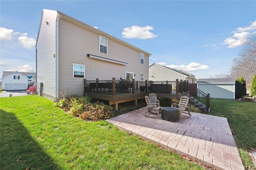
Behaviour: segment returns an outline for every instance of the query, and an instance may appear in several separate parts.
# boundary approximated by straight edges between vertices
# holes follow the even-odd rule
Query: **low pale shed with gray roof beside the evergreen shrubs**
[[[235,79],[198,79],[197,88],[210,98],[235,99]]]

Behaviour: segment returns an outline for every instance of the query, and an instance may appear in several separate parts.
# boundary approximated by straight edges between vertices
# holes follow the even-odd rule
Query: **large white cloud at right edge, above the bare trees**
[[[244,45],[246,39],[253,34],[256,34],[256,21],[252,22],[250,26],[246,26],[244,28],[238,27],[236,31],[232,31],[232,37],[228,37],[222,45],[228,45],[228,48],[235,48],[240,45]]]

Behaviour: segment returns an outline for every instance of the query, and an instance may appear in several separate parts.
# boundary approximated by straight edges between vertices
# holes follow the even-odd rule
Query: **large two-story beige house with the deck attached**
[[[99,21],[100,22],[100,21]],[[146,80],[150,53],[59,11],[42,12],[36,40],[37,93],[82,96],[86,80]]]

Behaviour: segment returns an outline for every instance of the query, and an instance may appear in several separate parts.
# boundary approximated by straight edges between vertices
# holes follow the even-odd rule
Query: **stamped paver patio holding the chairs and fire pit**
[[[189,119],[170,122],[144,117],[144,111],[145,107],[106,121],[212,168],[244,170],[226,118],[191,113]]]

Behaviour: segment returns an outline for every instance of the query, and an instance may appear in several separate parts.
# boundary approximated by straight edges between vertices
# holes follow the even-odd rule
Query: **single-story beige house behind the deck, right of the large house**
[[[179,81],[186,80],[188,83],[196,83],[194,75],[186,71],[176,70],[158,63],[153,63],[149,66],[148,75],[149,81],[176,81],[176,79],[178,79]]]

